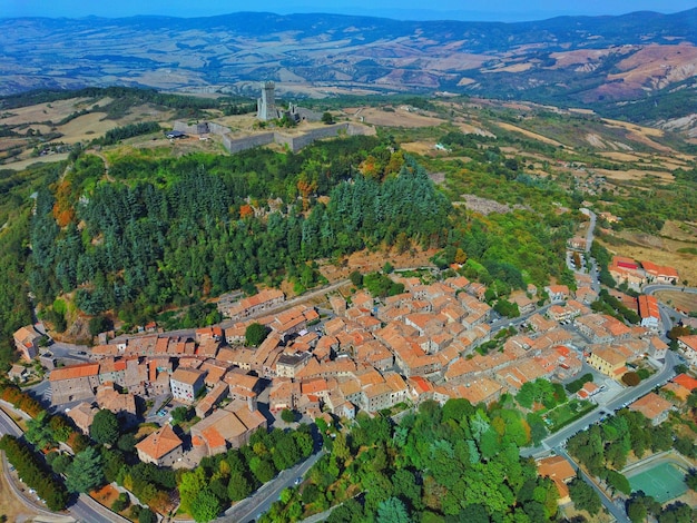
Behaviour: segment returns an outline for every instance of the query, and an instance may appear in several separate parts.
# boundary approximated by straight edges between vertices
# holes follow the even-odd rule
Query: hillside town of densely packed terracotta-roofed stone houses
[[[671,270],[645,262],[642,273],[630,265],[616,257],[610,270],[644,283],[646,273],[671,282]],[[86,434],[98,408],[115,412],[125,424],[159,423],[160,431],[138,443],[138,455],[175,467],[246,444],[256,430],[279,423],[284,411],[331,423],[357,412],[399,413],[426,399],[491,404],[526,383],[568,383],[589,367],[607,379],[587,383],[578,397],[588,401],[606,391],[611,397],[626,386],[621,378],[630,369],[655,372],[668,345],[659,335],[664,328],[652,296],[613,292],[640,315],[637,325],[592,312],[598,298],[592,275],[577,272],[575,292],[529,285],[514,298],[518,319],[502,318],[485,303],[484,285],[458,275],[424,283],[393,274],[402,293],[384,298],[364,289],[347,298],[332,293],[322,314],[308,305],[283,309],[281,290],[263,290],[220,303],[228,328],[199,328],[193,337],[158,333],[154,324],[137,336],[104,333],[104,343],[89,351],[90,363],[50,371],[49,397]],[[268,332],[258,346],[245,345],[253,324]],[[16,334],[27,359],[37,355],[32,330],[27,326]],[[680,338],[693,365],[696,338]],[[41,362],[51,368],[55,361],[47,354]],[[16,365],[10,377],[26,379],[26,368]],[[193,408],[200,420],[186,434],[168,424],[177,406]]]

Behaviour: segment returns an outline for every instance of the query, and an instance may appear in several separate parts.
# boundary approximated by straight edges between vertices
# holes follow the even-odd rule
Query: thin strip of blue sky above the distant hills
[[[206,17],[237,11],[334,12],[395,19],[539,20],[561,14],[621,14],[632,11],[670,13],[697,7],[697,0],[0,0],[0,18],[130,17],[167,14]]]

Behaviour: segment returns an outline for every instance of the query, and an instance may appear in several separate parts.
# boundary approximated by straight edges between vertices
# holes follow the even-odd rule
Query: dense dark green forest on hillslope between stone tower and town
[[[125,317],[130,323],[173,303],[277,284],[317,258],[412,241],[443,246],[446,198],[402,156],[389,172],[363,176],[366,146],[385,150],[356,138],[297,157],[125,158],[110,167],[114,182],[102,180],[100,158],[82,155],[53,190],[38,191],[31,287],[45,304],[77,289],[77,305],[92,315],[138,310]],[[269,197],[278,198],[274,210]]]

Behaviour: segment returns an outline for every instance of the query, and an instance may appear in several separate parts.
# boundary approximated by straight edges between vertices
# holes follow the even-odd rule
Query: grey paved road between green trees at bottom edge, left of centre
[[[271,505],[278,500],[284,489],[293,486],[295,478],[304,476],[323,455],[324,451],[320,451],[303,463],[295,465],[293,468],[281,472],[274,480],[263,485],[252,496],[229,507],[225,512],[225,515],[216,521],[246,523],[256,520],[257,515],[271,509]]]

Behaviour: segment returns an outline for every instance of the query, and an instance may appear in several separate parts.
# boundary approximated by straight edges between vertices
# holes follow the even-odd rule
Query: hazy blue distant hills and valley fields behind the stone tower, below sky
[[[697,9],[536,22],[397,21],[239,12],[209,18],[0,19],[0,93],[149,86],[173,91],[448,91],[554,103],[693,87]]]

